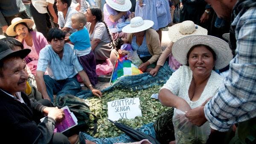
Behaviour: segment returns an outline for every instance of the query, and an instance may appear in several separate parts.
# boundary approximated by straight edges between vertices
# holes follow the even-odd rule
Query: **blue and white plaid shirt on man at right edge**
[[[236,56],[218,93],[204,107],[211,127],[218,131],[256,117],[256,7],[239,13],[232,25],[236,25]]]

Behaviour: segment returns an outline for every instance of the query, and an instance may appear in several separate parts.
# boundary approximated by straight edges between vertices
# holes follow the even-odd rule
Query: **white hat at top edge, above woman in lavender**
[[[116,11],[126,12],[131,9],[130,0],[106,0],[108,6]]]

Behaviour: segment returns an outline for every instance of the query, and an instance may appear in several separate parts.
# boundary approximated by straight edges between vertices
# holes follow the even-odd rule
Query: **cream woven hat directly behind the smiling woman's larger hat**
[[[168,33],[170,40],[175,42],[181,37],[186,37],[189,35],[207,35],[207,29],[195,25],[195,23],[190,20],[186,20],[182,23],[177,23],[171,26]]]

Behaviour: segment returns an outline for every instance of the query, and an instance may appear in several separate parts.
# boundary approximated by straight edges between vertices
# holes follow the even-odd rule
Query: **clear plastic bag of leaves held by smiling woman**
[[[197,127],[189,122],[189,119],[185,117],[185,112],[179,109],[174,109],[172,123],[176,144],[205,144],[210,135],[209,122]]]

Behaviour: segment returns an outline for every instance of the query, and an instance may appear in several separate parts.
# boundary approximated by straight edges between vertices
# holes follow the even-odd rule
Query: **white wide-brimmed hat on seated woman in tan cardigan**
[[[122,32],[135,33],[142,32],[151,28],[154,25],[152,20],[143,20],[142,17],[134,17],[131,19],[131,23],[122,28]]]

